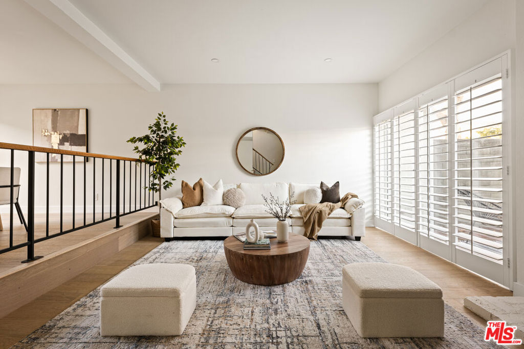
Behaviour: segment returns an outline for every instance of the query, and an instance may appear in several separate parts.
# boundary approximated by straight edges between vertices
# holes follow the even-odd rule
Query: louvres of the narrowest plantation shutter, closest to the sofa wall
[[[391,120],[374,127],[375,217],[391,221]]]

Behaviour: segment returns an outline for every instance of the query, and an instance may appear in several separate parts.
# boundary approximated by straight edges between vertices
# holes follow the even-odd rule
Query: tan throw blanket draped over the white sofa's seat
[[[320,229],[322,229],[322,223],[324,223],[334,210],[344,207],[346,202],[352,197],[358,196],[353,193],[347,193],[340,202],[337,202],[336,204],[323,202],[322,204],[307,204],[300,206],[300,213],[302,213],[302,217],[304,217],[304,237],[316,240],[316,235],[318,235]]]

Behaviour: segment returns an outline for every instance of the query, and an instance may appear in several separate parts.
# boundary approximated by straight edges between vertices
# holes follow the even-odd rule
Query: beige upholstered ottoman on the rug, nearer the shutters
[[[362,337],[442,337],[442,290],[411,268],[355,263],[342,268],[342,306]]]

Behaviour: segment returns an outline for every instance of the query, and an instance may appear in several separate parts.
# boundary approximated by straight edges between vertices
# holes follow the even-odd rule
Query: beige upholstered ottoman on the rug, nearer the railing
[[[191,265],[136,265],[102,287],[100,333],[180,335],[195,306],[196,276]]]

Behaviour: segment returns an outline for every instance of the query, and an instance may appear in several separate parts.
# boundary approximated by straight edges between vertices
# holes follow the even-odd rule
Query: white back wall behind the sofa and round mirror
[[[46,107],[88,108],[89,151],[121,156],[134,156],[125,141],[146,133],[163,110],[187,142],[174,187],[181,179],[194,183],[199,177],[212,184],[219,178],[224,183],[340,180],[341,190],[366,200],[372,224],[371,120],[377,112],[376,84],[167,85],[160,93],[131,84],[0,85],[0,140],[32,144],[31,109]],[[238,137],[255,126],[275,130],[286,147],[281,167],[268,176],[249,175],[236,162]],[[0,151],[0,165],[7,161],[8,153]],[[17,164],[25,168],[26,163],[27,156],[17,154]],[[68,166],[65,172],[70,173]],[[56,179],[59,165],[53,164],[51,170]],[[45,165],[36,165],[41,180],[44,171]],[[71,187],[69,182],[66,187]],[[57,190],[54,185],[52,192]],[[37,188],[40,208],[44,194],[43,186]],[[52,205],[58,202],[54,195]]]

